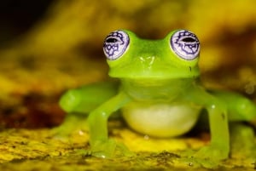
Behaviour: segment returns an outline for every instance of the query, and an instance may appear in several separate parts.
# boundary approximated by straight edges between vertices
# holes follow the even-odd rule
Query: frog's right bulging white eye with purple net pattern
[[[200,43],[191,31],[178,30],[170,40],[172,51],[184,60],[194,60],[199,56]]]

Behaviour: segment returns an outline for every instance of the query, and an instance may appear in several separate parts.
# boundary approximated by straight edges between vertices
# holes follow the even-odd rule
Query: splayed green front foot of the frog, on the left
[[[115,140],[98,140],[90,145],[90,150],[85,152],[86,156],[112,158],[115,156],[131,157],[134,154],[123,144],[116,143]]]

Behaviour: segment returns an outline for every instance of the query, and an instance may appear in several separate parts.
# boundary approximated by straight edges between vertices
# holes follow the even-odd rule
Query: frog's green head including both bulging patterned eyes
[[[172,31],[159,40],[141,39],[126,30],[113,31],[106,37],[103,51],[110,77],[172,79],[200,74],[200,43],[191,31]]]

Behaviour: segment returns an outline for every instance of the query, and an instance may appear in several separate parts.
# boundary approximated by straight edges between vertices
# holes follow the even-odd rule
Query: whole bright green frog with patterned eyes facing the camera
[[[61,108],[89,113],[90,151],[111,157],[116,143],[108,138],[108,117],[120,111],[138,133],[167,138],[187,133],[202,110],[207,111],[210,145],[195,157],[229,157],[229,122],[256,119],[256,106],[240,94],[207,90],[199,82],[200,42],[187,30],[171,31],[158,40],[142,39],[132,31],[111,32],[103,43],[109,76],[116,83],[98,83],[63,94]]]

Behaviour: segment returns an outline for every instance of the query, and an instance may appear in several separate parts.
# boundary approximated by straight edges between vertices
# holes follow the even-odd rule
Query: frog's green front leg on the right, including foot
[[[195,88],[185,97],[190,102],[207,109],[211,142],[195,153],[195,157],[211,160],[222,160],[229,157],[230,134],[228,125],[227,106],[204,88]]]

